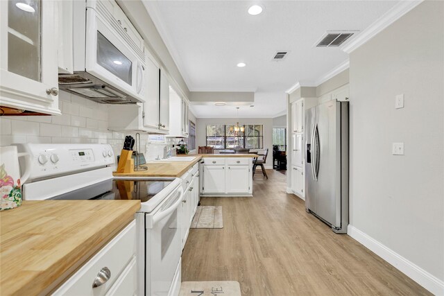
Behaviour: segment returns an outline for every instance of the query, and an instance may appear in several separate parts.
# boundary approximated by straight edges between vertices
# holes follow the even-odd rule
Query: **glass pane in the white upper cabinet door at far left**
[[[42,6],[39,0],[8,1],[8,71],[42,81]]]

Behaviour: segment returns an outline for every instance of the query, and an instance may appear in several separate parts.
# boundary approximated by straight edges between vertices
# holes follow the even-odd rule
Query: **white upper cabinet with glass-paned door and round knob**
[[[0,1],[0,105],[60,114],[56,1]]]

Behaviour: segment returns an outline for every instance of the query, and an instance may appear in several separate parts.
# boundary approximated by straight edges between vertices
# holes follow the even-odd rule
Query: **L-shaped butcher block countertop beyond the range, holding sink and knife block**
[[[193,157],[191,162],[171,162],[168,160],[156,160],[147,162],[143,166],[148,167],[146,171],[135,171],[133,173],[112,173],[114,177],[180,177],[186,173],[191,166],[194,166],[203,157],[257,157],[255,154],[187,154],[177,155],[178,157]]]

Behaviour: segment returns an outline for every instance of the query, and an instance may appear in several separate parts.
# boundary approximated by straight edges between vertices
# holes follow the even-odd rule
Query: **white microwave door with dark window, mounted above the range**
[[[143,101],[144,64],[95,9],[86,11],[85,71]]]

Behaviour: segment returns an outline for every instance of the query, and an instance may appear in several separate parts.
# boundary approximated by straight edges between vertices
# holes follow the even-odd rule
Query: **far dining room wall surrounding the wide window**
[[[264,125],[264,148],[268,148],[268,157],[266,159],[265,168],[273,168],[273,119],[197,119],[196,123],[196,141],[198,146],[206,145],[206,128],[212,124],[262,124]]]

